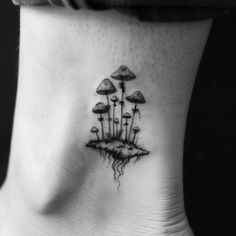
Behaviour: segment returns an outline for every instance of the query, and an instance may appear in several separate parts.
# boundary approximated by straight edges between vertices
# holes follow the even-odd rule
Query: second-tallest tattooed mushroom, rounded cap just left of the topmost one
[[[98,86],[96,92],[100,95],[105,95],[107,98],[108,106],[108,139],[111,138],[111,114],[110,114],[110,103],[109,103],[109,94],[116,92],[116,87],[109,79],[104,79]]]

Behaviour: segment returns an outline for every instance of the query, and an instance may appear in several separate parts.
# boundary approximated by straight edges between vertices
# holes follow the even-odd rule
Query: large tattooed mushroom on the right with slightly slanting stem
[[[132,116],[132,121],[130,125],[130,130],[129,130],[129,137],[128,137],[128,143],[129,143],[132,129],[133,129],[133,124],[134,124],[134,117],[135,117],[135,114],[139,111],[139,109],[137,109],[137,104],[143,104],[146,101],[145,101],[145,98],[143,97],[143,94],[140,91],[136,91],[131,96],[126,97],[126,100],[135,104],[134,108],[132,109],[133,116]]]

